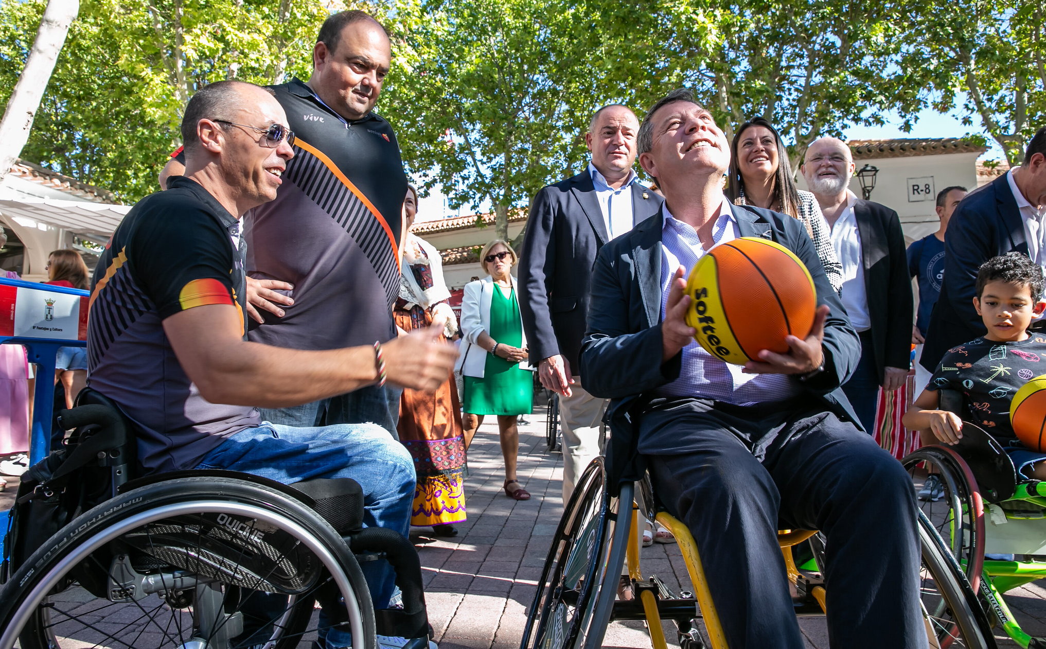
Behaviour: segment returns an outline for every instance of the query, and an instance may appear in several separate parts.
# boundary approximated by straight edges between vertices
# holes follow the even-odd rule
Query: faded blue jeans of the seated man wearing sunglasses
[[[373,424],[294,428],[263,423],[247,428],[207,453],[197,469],[226,469],[268,477],[285,485],[314,478],[350,477],[363,488],[363,524],[410,531],[414,463],[407,449]],[[388,608],[394,574],[384,559],[364,561],[374,608]],[[348,646],[327,634],[334,646]]]

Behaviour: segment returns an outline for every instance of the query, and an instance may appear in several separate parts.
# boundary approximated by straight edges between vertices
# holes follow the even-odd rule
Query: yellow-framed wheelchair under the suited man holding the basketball
[[[612,621],[644,621],[654,649],[668,646],[662,621],[675,625],[682,649],[726,649],[702,557],[689,530],[656,505],[651,478],[635,463],[634,440],[622,426],[611,427],[610,451],[595,458],[581,477],[552,537],[551,547],[528,609],[521,649],[595,649]],[[636,483],[641,497],[636,498]],[[667,528],[679,542],[692,592],[674,592],[664,580],[646,575],[640,562],[640,508]],[[920,592],[932,648],[996,646],[988,618],[978,605],[959,563],[925,515],[919,515]],[[797,565],[792,549],[810,542],[814,559]],[[825,610],[821,567],[823,537],[815,531],[780,531],[778,542],[797,616]],[[631,600],[616,599],[622,566],[628,565]]]

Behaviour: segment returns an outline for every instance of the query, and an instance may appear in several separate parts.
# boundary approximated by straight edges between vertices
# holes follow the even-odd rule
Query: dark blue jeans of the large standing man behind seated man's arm
[[[338,397],[287,408],[258,408],[262,419],[285,426],[312,427],[335,424],[378,424],[400,439],[400,395],[392,385],[368,385]]]

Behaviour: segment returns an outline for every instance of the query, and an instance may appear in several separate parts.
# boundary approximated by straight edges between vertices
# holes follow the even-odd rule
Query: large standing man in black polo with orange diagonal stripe
[[[394,335],[407,177],[395,134],[371,112],[391,57],[377,20],[340,12],[320,28],[309,82],[272,87],[296,134],[295,156],[276,199],[245,219],[250,276],[280,288],[264,293],[276,304],[253,323],[253,341],[331,350]],[[161,183],[181,169],[172,160]],[[289,426],[372,422],[393,431],[397,415],[399,390],[379,386],[262,410]]]

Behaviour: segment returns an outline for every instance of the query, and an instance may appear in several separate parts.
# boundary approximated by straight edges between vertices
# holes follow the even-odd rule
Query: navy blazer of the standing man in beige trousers
[[[633,222],[657,214],[663,200],[634,183]],[[570,363],[570,372],[578,374],[592,264],[608,241],[602,210],[587,169],[543,187],[535,197],[519,274],[520,313],[535,366],[544,358],[562,354]]]

